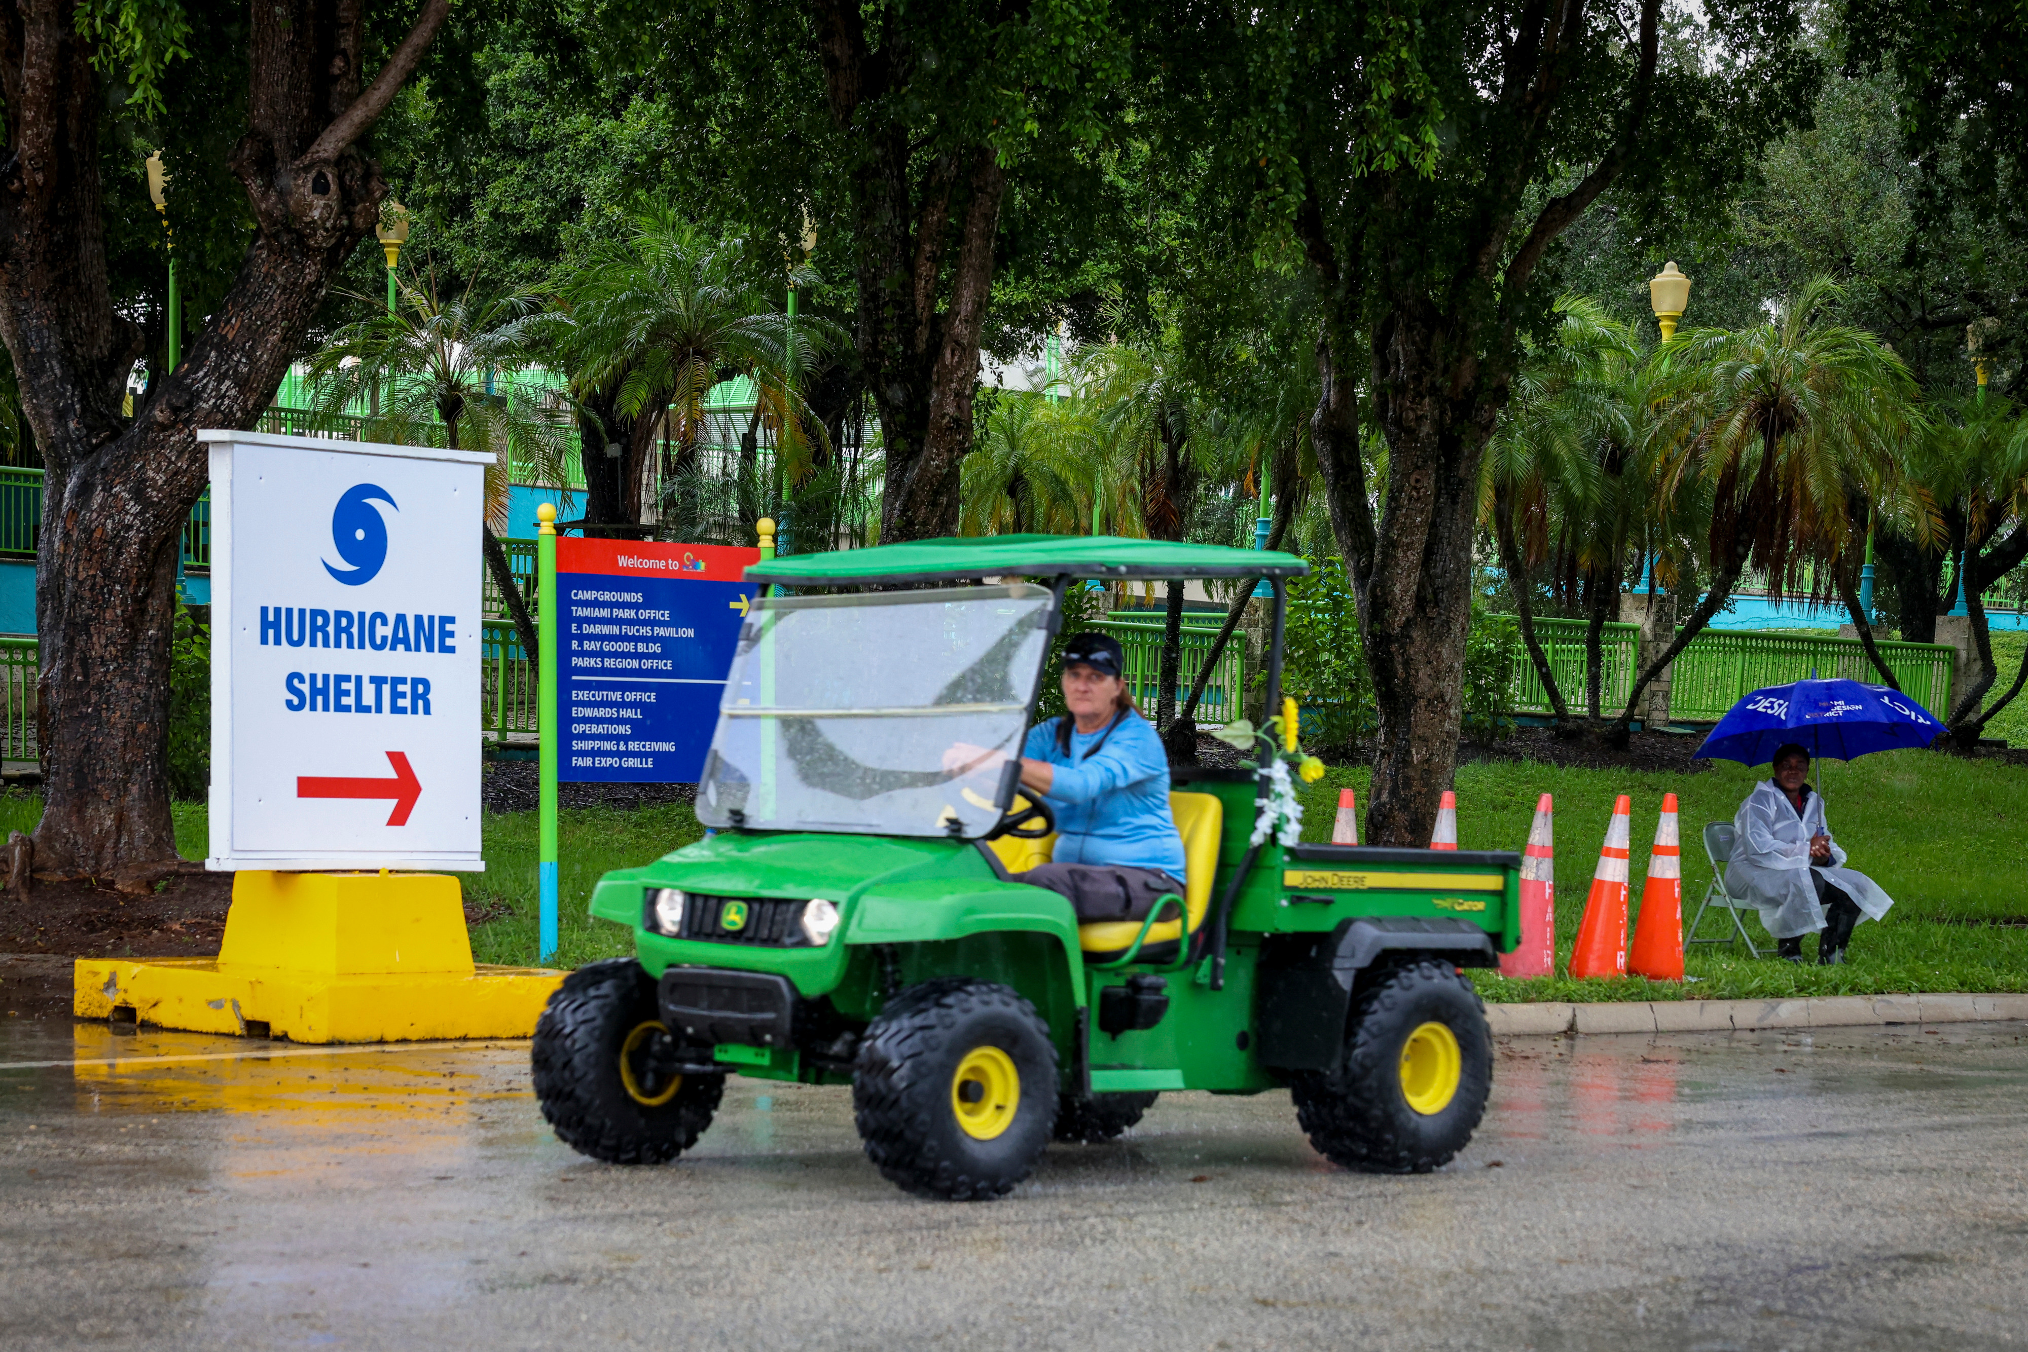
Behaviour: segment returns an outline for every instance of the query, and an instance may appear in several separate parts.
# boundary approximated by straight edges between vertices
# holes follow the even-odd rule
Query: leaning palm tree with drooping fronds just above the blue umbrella
[[[1665,505],[1710,491],[1712,588],[1635,677],[1614,740],[1748,564],[1766,572],[1774,598],[1811,564],[1839,568],[1864,529],[1854,489],[1898,472],[1898,450],[1923,424],[1914,379],[1880,339],[1835,322],[1841,298],[1815,278],[1764,324],[1683,330],[1657,349],[1649,472]]]

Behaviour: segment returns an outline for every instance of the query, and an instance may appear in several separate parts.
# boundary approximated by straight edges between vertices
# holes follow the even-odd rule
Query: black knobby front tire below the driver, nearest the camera
[[[1012,1121],[992,1139],[957,1119],[957,1070],[998,1048],[1018,1074]],[[1018,991],[937,977],[886,1003],[860,1040],[852,1111],[866,1157],[904,1192],[959,1202],[998,1198],[1034,1172],[1057,1125],[1057,1046]]]

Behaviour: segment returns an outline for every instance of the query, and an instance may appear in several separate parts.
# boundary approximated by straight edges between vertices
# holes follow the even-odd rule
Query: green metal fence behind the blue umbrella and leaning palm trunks
[[[1541,643],[1564,691],[1564,703],[1584,711],[1584,620],[1539,618],[1535,639]],[[1635,681],[1635,624],[1606,624],[1600,659],[1600,711],[1608,718],[1626,707]],[[1953,649],[1937,643],[1882,641],[1880,657],[1900,687],[1933,713],[1947,713],[1951,701]],[[1880,681],[1858,639],[1835,634],[1766,634],[1738,628],[1708,628],[1677,655],[1669,679],[1669,718],[1683,722],[1718,722],[1748,691],[1762,685],[1805,681],[1815,671],[1819,679]],[[1549,713],[1549,697],[1535,677],[1527,649],[1515,657],[1515,711]]]

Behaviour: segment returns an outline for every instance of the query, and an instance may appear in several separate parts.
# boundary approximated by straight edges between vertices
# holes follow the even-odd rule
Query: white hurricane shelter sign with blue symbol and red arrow
[[[493,456],[262,432],[211,444],[213,870],[483,870]]]

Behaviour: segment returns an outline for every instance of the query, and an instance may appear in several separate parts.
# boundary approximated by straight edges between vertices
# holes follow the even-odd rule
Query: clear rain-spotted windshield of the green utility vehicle
[[[1032,584],[752,602],[698,821],[984,835],[1004,807],[1004,758],[1020,756],[1053,604]],[[957,746],[963,762],[945,770]]]

